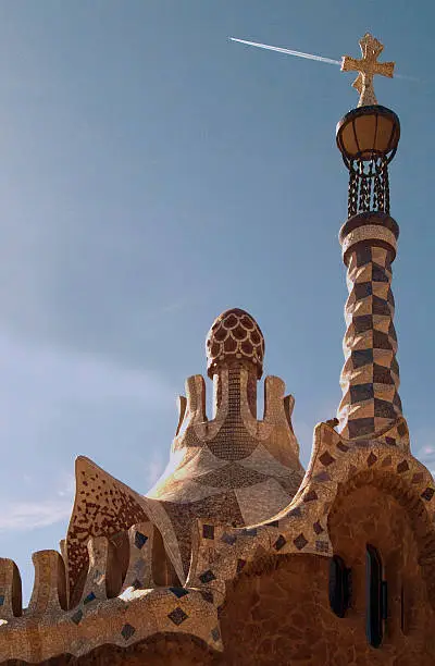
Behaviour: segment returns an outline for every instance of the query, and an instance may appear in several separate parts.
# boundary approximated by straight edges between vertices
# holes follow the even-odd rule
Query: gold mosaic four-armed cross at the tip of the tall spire
[[[357,60],[350,55],[344,55],[341,60],[341,72],[358,72],[352,86],[360,94],[359,107],[377,104],[376,96],[373,88],[373,76],[382,74],[393,78],[394,62],[377,62],[378,55],[384,50],[384,45],[375,37],[366,33],[360,39],[362,58]]]

